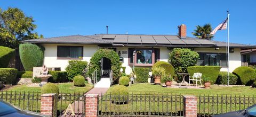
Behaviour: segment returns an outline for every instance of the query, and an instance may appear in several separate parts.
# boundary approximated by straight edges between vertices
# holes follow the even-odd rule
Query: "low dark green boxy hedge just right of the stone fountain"
[[[52,75],[48,79],[48,82],[51,82],[51,83],[65,83],[65,82],[68,82],[67,71],[49,71],[48,74]]]

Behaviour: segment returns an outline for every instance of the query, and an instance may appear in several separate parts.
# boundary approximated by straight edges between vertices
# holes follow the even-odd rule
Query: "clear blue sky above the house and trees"
[[[33,16],[36,32],[45,38],[73,34],[109,33],[177,34],[187,25],[187,35],[196,25],[213,27],[230,10],[230,42],[256,44],[256,1],[28,1],[1,0],[0,7],[18,7]],[[214,40],[226,41],[227,31],[218,31]]]

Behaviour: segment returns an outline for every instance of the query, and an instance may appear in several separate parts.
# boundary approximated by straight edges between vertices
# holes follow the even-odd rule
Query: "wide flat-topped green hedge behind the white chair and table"
[[[188,73],[193,76],[194,73],[202,73],[202,76],[209,77],[214,84],[219,76],[220,66],[190,66],[188,67]]]

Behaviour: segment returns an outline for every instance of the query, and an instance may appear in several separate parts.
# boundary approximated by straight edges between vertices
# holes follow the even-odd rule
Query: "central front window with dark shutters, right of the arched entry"
[[[153,48],[129,48],[129,64],[133,64],[133,51],[137,53],[134,56],[136,66],[151,66],[159,61],[159,49]]]

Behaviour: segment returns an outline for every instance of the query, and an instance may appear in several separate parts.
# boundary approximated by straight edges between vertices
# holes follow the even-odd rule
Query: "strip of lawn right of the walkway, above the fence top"
[[[224,94],[224,95],[255,95],[256,88],[249,86],[232,86],[223,87],[212,85],[210,89],[188,89],[188,88],[166,88],[161,85],[153,84],[133,84],[128,87],[129,93],[147,93],[147,94],[157,94],[157,93],[177,93],[181,95],[203,95],[203,94]]]

